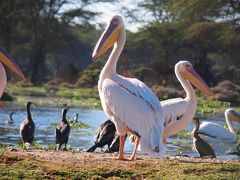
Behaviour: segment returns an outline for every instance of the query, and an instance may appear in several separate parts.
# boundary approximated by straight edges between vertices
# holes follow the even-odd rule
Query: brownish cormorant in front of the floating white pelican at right
[[[207,142],[205,142],[203,139],[201,139],[200,136],[198,135],[198,130],[199,130],[199,126],[200,126],[199,119],[193,118],[192,121],[196,125],[194,132],[193,132],[193,146],[200,154],[200,157],[212,156],[212,157],[216,158],[215,152],[212,149],[212,147]]]

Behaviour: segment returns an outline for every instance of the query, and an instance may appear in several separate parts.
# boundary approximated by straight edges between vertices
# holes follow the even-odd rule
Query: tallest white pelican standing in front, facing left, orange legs
[[[162,157],[166,153],[166,147],[162,142],[164,115],[161,104],[143,82],[116,73],[117,61],[125,39],[123,19],[115,15],[94,49],[93,60],[114,46],[98,81],[102,107],[116,125],[120,136],[120,160],[124,160],[123,149],[127,132],[137,136],[130,160],[134,160],[139,142],[143,152],[154,157]]]

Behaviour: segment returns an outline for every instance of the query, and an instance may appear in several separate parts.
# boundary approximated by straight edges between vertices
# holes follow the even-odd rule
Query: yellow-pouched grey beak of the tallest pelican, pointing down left
[[[110,47],[112,47],[119,38],[119,34],[120,27],[111,22],[98,40],[92,54],[92,59],[95,61],[97,57],[103,55]]]

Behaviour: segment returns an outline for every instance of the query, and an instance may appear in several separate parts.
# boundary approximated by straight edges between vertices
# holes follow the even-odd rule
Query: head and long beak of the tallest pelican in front
[[[103,32],[102,36],[94,48],[92,59],[103,55],[115,42],[119,39],[120,32],[124,28],[123,18],[120,15],[115,15],[110,19],[110,22]]]

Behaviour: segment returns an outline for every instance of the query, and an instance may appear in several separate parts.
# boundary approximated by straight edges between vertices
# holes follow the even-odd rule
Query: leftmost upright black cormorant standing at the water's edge
[[[20,126],[20,137],[22,143],[29,143],[32,144],[34,140],[34,132],[35,132],[35,123],[32,120],[32,115],[30,112],[32,102],[27,102],[26,109],[27,109],[27,117],[22,122]]]

